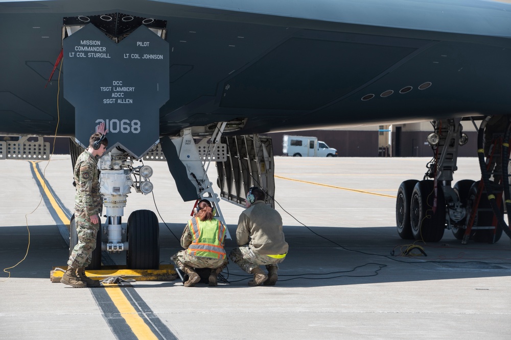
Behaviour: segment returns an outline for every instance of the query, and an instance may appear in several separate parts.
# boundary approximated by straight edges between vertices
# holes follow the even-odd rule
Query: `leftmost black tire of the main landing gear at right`
[[[398,234],[403,240],[413,240],[410,224],[410,202],[415,184],[419,180],[408,179],[401,183],[396,198],[396,226]]]

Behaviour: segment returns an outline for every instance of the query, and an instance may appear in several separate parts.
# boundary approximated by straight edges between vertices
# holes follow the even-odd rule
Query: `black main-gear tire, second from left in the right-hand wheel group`
[[[415,240],[438,242],[444,236],[446,218],[444,192],[438,188],[436,210],[433,212],[433,190],[432,180],[421,180],[413,188],[410,222]]]

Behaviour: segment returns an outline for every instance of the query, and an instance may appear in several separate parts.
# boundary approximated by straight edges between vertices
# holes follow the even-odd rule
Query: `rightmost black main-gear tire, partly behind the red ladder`
[[[477,195],[477,189],[479,186],[479,181],[474,182],[472,187],[470,187],[469,199],[471,202],[475,200]],[[493,211],[479,211],[479,209],[490,209],[491,204],[488,200],[488,196],[485,194],[481,195],[479,199],[478,212],[477,217],[474,220],[474,226],[490,226],[493,223]],[[504,214],[503,204],[500,206],[500,213]],[[472,231],[471,240],[480,243],[494,243],[500,240],[502,236],[502,228],[497,226],[497,230],[495,231],[495,240],[493,239],[493,229],[476,229]]]

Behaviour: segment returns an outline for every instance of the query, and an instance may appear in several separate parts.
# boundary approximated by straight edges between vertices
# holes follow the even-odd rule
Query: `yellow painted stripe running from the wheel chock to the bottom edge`
[[[117,284],[105,284],[105,291],[110,296],[110,299],[112,299],[115,307],[119,309],[121,317],[126,320],[126,323],[137,338],[157,339],[156,335],[154,335],[149,326],[146,325],[135,308],[133,308],[128,299],[126,299],[126,296]]]

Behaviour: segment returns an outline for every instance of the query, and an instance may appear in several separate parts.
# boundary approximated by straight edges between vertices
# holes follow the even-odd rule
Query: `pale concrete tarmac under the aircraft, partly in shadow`
[[[38,185],[40,173],[43,192],[69,214],[69,156],[0,160],[0,338],[511,339],[506,234],[462,245],[446,230],[440,242],[417,243],[427,256],[399,256],[411,241],[396,231],[396,193],[403,180],[422,179],[428,161],[275,158],[276,209],[290,246],[276,286],[248,287],[250,276],[229,264],[229,283],[218,287],[174,280],[74,289],[50,281],[68,249]],[[130,194],[124,222],[134,210],[154,211],[168,264],[194,202],[182,202],[166,163],[146,164],[154,199]],[[476,158],[459,159],[458,168],[454,182],[480,177]],[[214,165],[208,175],[215,183]],[[222,201],[221,210],[234,237],[243,208]],[[227,252],[235,245],[228,240]],[[110,260],[125,264],[125,254]]]

